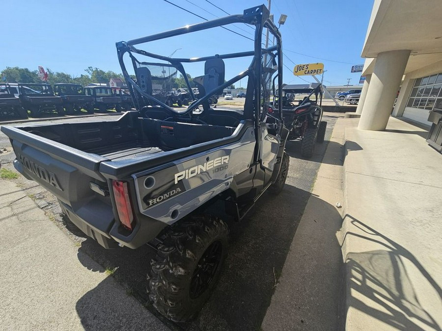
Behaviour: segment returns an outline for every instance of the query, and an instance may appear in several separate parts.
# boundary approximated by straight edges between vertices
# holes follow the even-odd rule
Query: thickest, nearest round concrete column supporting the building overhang
[[[360,116],[359,129],[385,130],[409,57],[408,50],[378,54]]]

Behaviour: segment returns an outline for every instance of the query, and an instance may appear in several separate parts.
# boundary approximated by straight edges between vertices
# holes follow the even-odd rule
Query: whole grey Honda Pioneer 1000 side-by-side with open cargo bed
[[[136,48],[237,23],[255,29],[249,51],[170,58]],[[263,28],[275,37],[275,46],[262,48]],[[187,321],[220,277],[229,232],[220,215],[244,219],[264,192],[280,193],[287,177],[289,130],[282,104],[269,112],[272,89],[277,85],[282,94],[281,35],[260,5],[118,42],[116,48],[137,111],[116,121],[3,126],[1,131],[11,140],[16,169],[51,191],[85,234],[104,248],[148,244],[156,250],[146,261],[149,298],[168,319]],[[235,59],[250,61],[249,66],[225,80],[225,61]],[[179,72],[194,97],[185,71],[191,63],[200,63],[202,71],[193,78],[198,99],[185,109],[172,108],[163,98],[163,83]],[[210,107],[210,98],[244,78],[243,109]],[[220,215],[219,205],[224,206]]]

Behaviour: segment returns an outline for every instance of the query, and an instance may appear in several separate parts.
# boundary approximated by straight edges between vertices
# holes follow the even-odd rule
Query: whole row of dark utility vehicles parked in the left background
[[[129,100],[130,98],[130,100]],[[87,86],[80,84],[55,84],[54,89],[47,83],[1,83],[0,116],[28,118],[43,114],[74,115],[82,109],[87,113],[104,113],[130,110],[132,98],[124,99],[115,95],[107,86]]]

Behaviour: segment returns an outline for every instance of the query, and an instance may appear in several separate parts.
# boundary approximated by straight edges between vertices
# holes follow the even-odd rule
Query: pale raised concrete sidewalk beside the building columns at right
[[[441,330],[442,155],[396,118],[386,131],[345,128],[345,326]]]

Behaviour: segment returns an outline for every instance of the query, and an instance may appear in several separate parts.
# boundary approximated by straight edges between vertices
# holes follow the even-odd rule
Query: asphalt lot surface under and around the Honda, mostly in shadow
[[[230,247],[219,284],[198,317],[186,324],[174,324],[166,320],[148,301],[145,290],[146,272],[151,258],[155,255],[152,249],[145,246],[138,250],[104,250],[75,228],[65,228],[56,199],[49,192],[25,178],[16,180],[40,208],[45,210],[48,217],[54,219],[60,229],[78,243],[79,253],[85,253],[103,267],[115,270],[112,276],[126,289],[126,293],[137,298],[170,329],[259,330],[338,117],[333,113],[324,116],[324,120],[328,122],[325,142],[316,145],[313,157],[308,160],[301,158],[301,141],[287,142],[290,168],[286,186],[280,195],[263,195],[246,219],[240,223],[235,223],[224,215],[223,218],[230,227]],[[70,118],[69,121],[103,119],[114,120],[116,117]],[[8,149],[9,146],[8,138],[0,134],[0,149],[6,148],[6,151],[0,153],[1,165],[12,169],[15,156]],[[212,208],[214,211],[220,210],[217,205]],[[82,261],[82,254],[78,256],[86,268],[92,268],[86,261]],[[84,300],[91,300],[94,295],[99,298],[99,293],[100,285],[90,291]],[[80,301],[78,307],[81,306]],[[78,309],[77,313],[81,315],[82,310]]]

